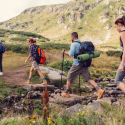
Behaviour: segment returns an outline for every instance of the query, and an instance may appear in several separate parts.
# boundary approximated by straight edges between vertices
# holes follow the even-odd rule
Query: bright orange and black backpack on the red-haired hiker
[[[36,45],[36,62],[38,64],[44,64],[46,63],[46,56],[44,51]]]

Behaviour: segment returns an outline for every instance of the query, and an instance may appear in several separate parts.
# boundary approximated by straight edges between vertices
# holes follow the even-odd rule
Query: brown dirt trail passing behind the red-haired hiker
[[[60,54],[55,54],[48,51],[46,51],[45,54],[46,56],[51,56],[59,60],[62,59],[62,55]],[[1,76],[0,78],[3,78],[3,80],[7,83],[14,83],[16,85],[26,85],[25,84],[27,80],[26,70],[28,69],[30,69],[29,66],[23,65],[17,69],[4,72],[4,75]]]

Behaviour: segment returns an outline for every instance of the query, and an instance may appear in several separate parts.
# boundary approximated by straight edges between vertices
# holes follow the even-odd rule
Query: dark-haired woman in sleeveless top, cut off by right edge
[[[115,83],[117,86],[125,93],[125,83],[123,82],[123,78],[125,77],[125,16],[122,18],[118,18],[115,21],[115,27],[117,31],[120,33],[120,45],[122,47],[122,55],[121,55],[121,63],[118,67]]]

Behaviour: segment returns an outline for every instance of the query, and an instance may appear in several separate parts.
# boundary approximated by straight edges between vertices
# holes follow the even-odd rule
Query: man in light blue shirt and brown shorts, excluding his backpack
[[[62,53],[64,53],[67,56],[74,56],[74,55],[79,53],[81,41],[78,39],[77,32],[73,32],[71,34],[71,39],[72,39],[72,44],[70,47],[70,51],[66,52],[65,50],[62,50]],[[87,81],[88,83],[90,83],[96,89],[96,91],[98,93],[98,99],[103,97],[104,90],[100,89],[99,86],[95,83],[95,81],[91,79],[88,67],[84,67],[82,64],[80,64],[78,62],[78,59],[75,58],[75,56],[74,56],[74,60],[73,60],[73,65],[70,68],[70,71],[69,71],[68,76],[67,76],[66,92],[61,94],[63,97],[67,97],[67,98],[70,97],[69,93],[70,93],[71,83],[79,75],[82,75],[84,80]]]

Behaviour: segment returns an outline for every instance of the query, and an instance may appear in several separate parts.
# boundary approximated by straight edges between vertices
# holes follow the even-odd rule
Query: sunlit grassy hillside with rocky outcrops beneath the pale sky
[[[114,21],[125,14],[124,0],[74,0],[66,4],[38,6],[1,22],[0,28],[27,31],[69,43],[73,31],[81,40],[118,46]]]

